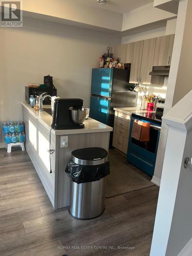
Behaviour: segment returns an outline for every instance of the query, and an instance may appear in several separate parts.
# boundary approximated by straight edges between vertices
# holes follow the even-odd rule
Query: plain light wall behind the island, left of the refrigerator
[[[82,98],[89,106],[92,68],[107,46],[121,42],[114,35],[31,18],[23,28],[0,28],[0,34],[1,123],[22,119],[25,86],[43,83],[48,74],[60,97]]]

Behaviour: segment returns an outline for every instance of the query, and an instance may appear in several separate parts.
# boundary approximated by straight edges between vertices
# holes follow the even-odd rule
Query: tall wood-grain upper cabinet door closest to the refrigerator
[[[143,40],[131,43],[131,74],[130,82],[138,83],[140,70],[141,70],[141,59],[143,51]]]

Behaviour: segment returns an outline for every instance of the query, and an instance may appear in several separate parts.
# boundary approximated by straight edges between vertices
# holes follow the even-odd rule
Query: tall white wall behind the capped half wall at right
[[[169,109],[172,108],[172,106],[174,105],[174,100],[175,100],[175,103],[177,103],[186,93],[188,93],[192,89],[191,82],[190,82],[191,80],[189,79],[189,76],[192,76],[191,72],[189,71],[190,69],[189,62],[191,61],[189,49],[191,48],[190,44],[192,41],[191,32],[190,32],[190,26],[191,26],[190,14],[188,14],[188,20],[187,21],[185,20],[187,8],[189,8],[187,12],[190,13],[190,8],[192,8],[192,6],[190,7],[190,5],[188,5],[187,7],[187,2],[188,0],[181,0],[179,2],[174,49],[173,49],[172,63],[170,66],[170,72],[168,77],[164,114]],[[190,2],[190,4],[192,3]],[[188,25],[186,23],[188,23]],[[188,29],[186,30],[186,28]],[[184,38],[186,38],[185,45],[183,41]],[[185,59],[183,58],[181,62],[181,56],[183,55],[182,52],[185,53],[184,54]],[[186,72],[186,70],[188,71]],[[183,75],[183,79],[185,79],[185,82],[182,79],[178,80],[179,76],[182,78],[182,75]],[[167,133],[168,133],[168,127],[166,124],[162,123],[162,129],[161,129],[161,134],[159,139],[159,147],[157,152],[157,160],[156,160],[153,179],[155,178],[161,179]]]

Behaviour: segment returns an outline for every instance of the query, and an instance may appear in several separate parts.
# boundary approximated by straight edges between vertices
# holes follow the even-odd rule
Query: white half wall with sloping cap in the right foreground
[[[176,256],[192,237],[192,166],[184,166],[192,157],[191,97],[192,90],[163,116],[169,129],[151,256]]]

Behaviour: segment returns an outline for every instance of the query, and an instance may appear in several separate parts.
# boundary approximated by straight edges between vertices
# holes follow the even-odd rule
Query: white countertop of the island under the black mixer
[[[47,112],[35,111],[33,110],[27,102],[22,102],[22,105],[32,114],[38,121],[44,125],[49,131],[52,124],[52,116]],[[49,108],[50,105],[44,105],[44,109]],[[103,132],[112,132],[113,128],[98,122],[92,118],[89,118],[84,121],[83,129],[70,129],[70,130],[52,130],[55,135],[67,135],[67,134],[83,134],[83,133],[103,133]]]

